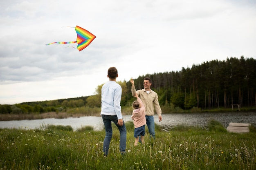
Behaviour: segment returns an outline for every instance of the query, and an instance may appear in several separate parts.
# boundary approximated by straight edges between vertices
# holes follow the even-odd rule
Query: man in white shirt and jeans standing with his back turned
[[[104,156],[108,156],[110,141],[112,139],[112,122],[120,132],[119,150],[124,155],[126,150],[126,126],[121,114],[122,88],[116,83],[118,77],[117,68],[108,69],[109,81],[101,88],[101,117],[105,126],[105,138],[103,142]]]

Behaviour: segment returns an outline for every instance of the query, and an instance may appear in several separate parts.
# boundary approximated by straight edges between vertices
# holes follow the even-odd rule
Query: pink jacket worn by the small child
[[[140,98],[138,98],[137,100],[141,107],[134,109],[132,111],[132,117],[131,117],[135,128],[139,128],[146,124],[145,106],[142,103]]]

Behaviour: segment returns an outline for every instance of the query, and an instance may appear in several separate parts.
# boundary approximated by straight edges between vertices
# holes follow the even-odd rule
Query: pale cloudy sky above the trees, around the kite
[[[0,1],[0,104],[94,95],[108,81],[256,59],[255,0]],[[82,51],[76,25],[96,38]]]

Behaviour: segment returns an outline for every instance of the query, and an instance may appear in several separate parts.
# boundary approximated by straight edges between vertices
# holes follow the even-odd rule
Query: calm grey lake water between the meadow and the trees
[[[131,115],[123,116],[124,121],[132,121]],[[168,130],[176,125],[200,126],[206,127],[210,119],[219,121],[225,128],[229,122],[250,123],[256,126],[256,112],[234,112],[234,113],[176,113],[163,114],[163,119],[158,122],[157,115],[154,116],[155,123]],[[0,121],[0,128],[26,128],[35,129],[42,125],[70,125],[74,130],[82,126],[93,126],[94,130],[103,129],[101,117],[85,116],[85,117],[70,117],[67,119],[37,119],[37,120],[18,120],[18,121]]]

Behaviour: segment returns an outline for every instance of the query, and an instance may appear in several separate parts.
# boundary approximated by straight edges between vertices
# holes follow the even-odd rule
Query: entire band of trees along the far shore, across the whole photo
[[[143,87],[144,77],[152,79],[152,90],[157,92],[160,106],[191,109],[256,107],[256,60],[236,57],[213,60],[182,68],[181,71],[154,73],[139,76],[136,89]],[[131,106],[135,99],[130,93],[130,82],[118,82],[122,86],[121,106]],[[101,87],[96,95],[44,102],[27,102],[0,105],[0,113],[63,112],[70,108],[101,107]]]

